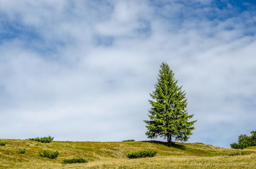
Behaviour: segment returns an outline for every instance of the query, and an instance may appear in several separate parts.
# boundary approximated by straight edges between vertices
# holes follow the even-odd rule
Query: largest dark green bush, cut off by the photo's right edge
[[[231,143],[230,146],[232,149],[244,149],[256,146],[256,130],[251,132],[251,136],[241,134],[238,136],[238,143]]]

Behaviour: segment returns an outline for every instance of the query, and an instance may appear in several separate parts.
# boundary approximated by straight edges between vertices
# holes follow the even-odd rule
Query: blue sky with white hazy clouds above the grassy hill
[[[0,138],[150,140],[166,62],[188,142],[230,148],[256,130],[255,33],[254,0],[0,1]]]

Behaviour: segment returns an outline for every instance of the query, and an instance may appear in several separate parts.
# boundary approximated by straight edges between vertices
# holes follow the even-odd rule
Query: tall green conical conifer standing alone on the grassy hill
[[[150,120],[144,120],[147,124],[147,138],[167,137],[169,146],[172,137],[177,141],[187,141],[197,121],[189,122],[194,114],[188,115],[186,93],[177,82],[173,71],[163,62],[154,85],[155,91],[150,93],[154,101],[148,100],[151,104],[148,110]]]

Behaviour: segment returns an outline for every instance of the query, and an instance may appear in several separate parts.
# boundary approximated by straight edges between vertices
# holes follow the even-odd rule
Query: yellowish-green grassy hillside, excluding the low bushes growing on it
[[[178,143],[172,147],[159,141],[135,142],[72,142],[41,143],[30,140],[9,140],[0,146],[0,168],[256,168],[256,147],[234,150],[203,143]],[[25,148],[25,154],[18,152]],[[43,150],[59,150],[57,159],[42,158]],[[155,157],[129,159],[127,153],[157,150]],[[234,152],[251,154],[229,156]],[[89,162],[62,164],[63,159],[84,158]],[[240,165],[238,165],[240,164]]]

